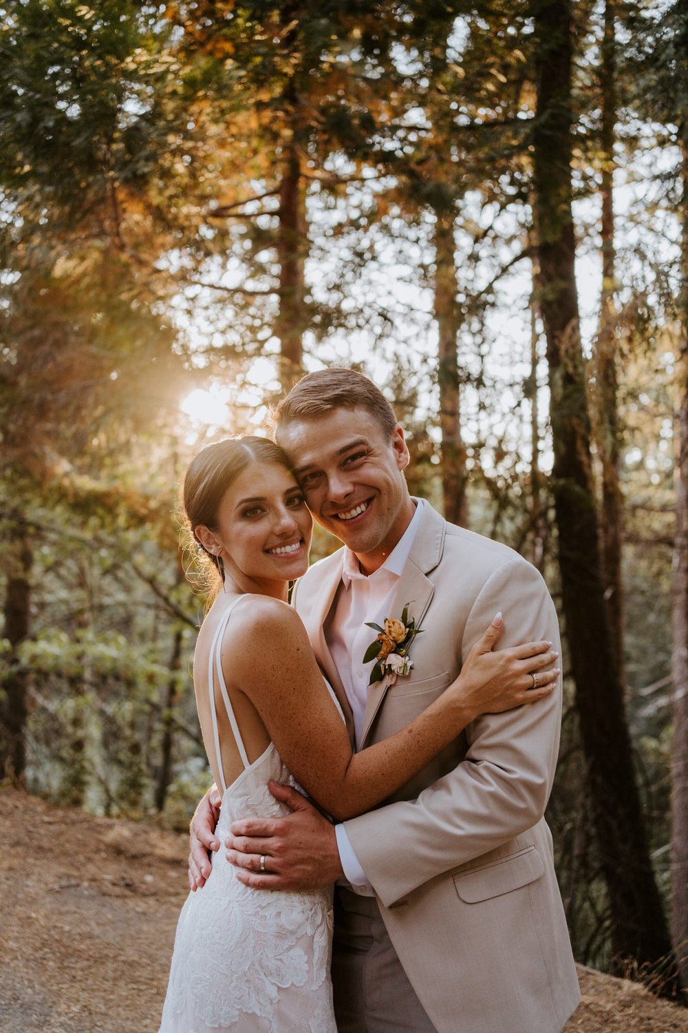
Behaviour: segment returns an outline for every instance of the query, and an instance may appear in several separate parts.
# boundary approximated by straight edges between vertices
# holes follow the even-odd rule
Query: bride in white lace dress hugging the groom
[[[537,690],[518,688],[533,657],[538,667],[551,663],[549,644],[531,644],[527,656],[525,647],[502,650],[497,660],[493,626],[431,707],[352,755],[338,705],[287,603],[288,583],[308,565],[313,521],[286,453],[258,437],[204,448],[187,471],[184,506],[199,552],[217,570],[194,688],[223,793],[221,841],[235,818],[287,813],[269,792],[271,780],[303,787],[336,819],[353,817],[407,782],[478,715],[552,689],[554,670],[539,675]],[[206,885],[182,909],[160,1033],[336,1033],[331,932],[328,890],[254,890],[218,852]]]

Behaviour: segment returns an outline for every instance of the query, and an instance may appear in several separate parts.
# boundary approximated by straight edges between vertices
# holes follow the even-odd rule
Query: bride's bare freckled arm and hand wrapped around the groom
[[[556,658],[548,643],[492,652],[501,632],[493,623],[456,681],[427,710],[396,734],[352,755],[298,615],[286,603],[257,597],[240,629],[238,623],[235,619],[223,645],[226,677],[250,697],[296,780],[338,820],[389,796],[480,714],[542,699],[557,677],[546,670]],[[538,671],[537,689],[529,688],[532,670]]]

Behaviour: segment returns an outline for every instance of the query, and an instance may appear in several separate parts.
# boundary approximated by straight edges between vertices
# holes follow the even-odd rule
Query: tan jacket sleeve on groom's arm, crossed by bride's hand
[[[488,578],[478,596],[462,636],[463,658],[498,608],[505,627],[500,647],[547,638],[559,649],[556,613],[545,583],[530,564],[513,560]],[[464,760],[417,800],[345,822],[383,904],[395,903],[536,824],[552,787],[560,717],[560,687],[536,706],[485,714],[466,729]]]

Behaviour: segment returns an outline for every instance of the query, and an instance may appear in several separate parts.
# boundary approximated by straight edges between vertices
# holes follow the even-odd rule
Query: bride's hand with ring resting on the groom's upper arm
[[[478,717],[500,714],[549,696],[560,670],[552,643],[526,643],[494,652],[504,622],[501,614],[472,647],[452,686],[457,698]]]

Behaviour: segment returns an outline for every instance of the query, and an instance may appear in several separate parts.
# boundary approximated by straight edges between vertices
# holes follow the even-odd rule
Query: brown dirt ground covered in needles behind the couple
[[[0,791],[0,1033],[156,1033],[186,853],[186,837]],[[688,1011],[580,975],[565,1033],[688,1033]]]

